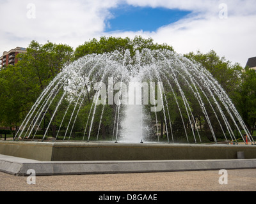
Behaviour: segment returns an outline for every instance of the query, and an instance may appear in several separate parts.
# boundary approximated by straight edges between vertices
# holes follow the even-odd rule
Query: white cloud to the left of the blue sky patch
[[[35,5],[35,18],[28,18],[28,4]],[[113,0],[6,0],[0,7],[0,52],[26,47],[32,40],[81,45],[104,31],[108,8],[115,5]]]

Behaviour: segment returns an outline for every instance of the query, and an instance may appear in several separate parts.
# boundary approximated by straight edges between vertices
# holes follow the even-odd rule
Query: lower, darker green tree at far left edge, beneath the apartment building
[[[20,73],[19,68],[8,66],[0,71],[0,124],[2,126],[19,126],[26,116],[35,90]]]

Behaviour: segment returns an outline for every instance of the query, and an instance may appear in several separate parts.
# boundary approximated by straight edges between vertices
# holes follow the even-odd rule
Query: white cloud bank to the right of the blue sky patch
[[[256,1],[157,1],[127,0],[134,6],[164,6],[191,10],[188,18],[174,24],[160,27],[156,32],[135,32],[145,37],[152,37],[158,43],[168,43],[175,51],[186,54],[200,50],[203,53],[214,50],[229,61],[245,66],[249,57],[256,56]],[[220,18],[223,13],[221,3],[227,6],[227,18]],[[132,33],[125,33],[132,36]],[[120,34],[121,35],[121,34]]]

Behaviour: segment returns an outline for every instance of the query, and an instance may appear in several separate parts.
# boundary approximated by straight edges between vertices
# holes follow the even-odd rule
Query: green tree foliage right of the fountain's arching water
[[[247,128],[253,133],[256,122],[256,73],[255,70],[243,69],[238,63],[231,64],[225,57],[220,57],[211,50],[207,54],[190,52],[185,55],[204,66],[236,105]]]

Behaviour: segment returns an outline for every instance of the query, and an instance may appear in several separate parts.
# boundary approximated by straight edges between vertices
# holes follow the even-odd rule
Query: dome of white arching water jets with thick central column
[[[102,94],[104,92],[106,94]],[[83,112],[85,106],[90,108]],[[198,142],[197,137],[202,143],[202,131],[198,129],[195,117],[195,114],[200,114],[215,143],[218,143],[218,131],[212,122],[214,120],[226,141],[228,135],[237,141],[232,126],[242,135],[236,124],[238,120],[250,141],[255,143],[230,98],[209,71],[170,50],[148,49],[137,50],[134,56],[129,50],[124,54],[115,51],[86,55],[66,66],[32,106],[15,138],[18,135],[19,139],[25,138],[27,134],[29,138],[36,129],[34,138],[42,128],[43,119],[48,117],[43,140],[54,122],[58,127],[56,138],[65,126],[63,140],[68,131],[70,140],[79,123],[83,126],[83,141],[90,142],[92,137],[98,141],[106,108],[112,111],[112,115],[108,115],[113,121],[108,125],[112,132],[108,134],[114,142],[143,143],[148,138],[160,142],[163,140],[159,138],[161,130],[161,136],[165,135],[168,143],[170,139],[174,143],[177,134],[182,132],[188,143],[189,134],[195,143]],[[60,117],[58,114],[63,115]],[[56,124],[57,116],[61,118],[59,124]],[[150,129],[154,131],[150,132]]]

